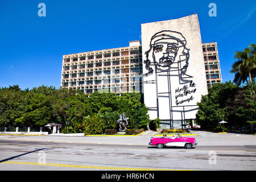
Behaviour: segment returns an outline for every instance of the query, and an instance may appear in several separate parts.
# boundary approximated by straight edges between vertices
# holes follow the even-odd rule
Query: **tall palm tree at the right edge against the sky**
[[[256,44],[250,44],[249,47],[243,49],[243,51],[236,51],[234,59],[237,59],[233,65],[230,73],[235,73],[233,82],[236,85],[241,85],[241,82],[248,83],[254,81],[256,75]]]

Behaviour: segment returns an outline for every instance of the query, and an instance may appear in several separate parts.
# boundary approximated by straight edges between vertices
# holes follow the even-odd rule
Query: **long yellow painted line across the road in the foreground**
[[[187,170],[187,169],[149,169],[149,168],[125,168],[125,167],[104,167],[104,166],[80,166],[69,164],[39,164],[30,162],[2,162],[5,164],[24,164],[24,165],[36,165],[36,166],[52,166],[52,167],[75,167],[75,168],[91,168],[91,169],[111,169],[111,170],[131,170],[131,171],[199,171],[199,170]]]

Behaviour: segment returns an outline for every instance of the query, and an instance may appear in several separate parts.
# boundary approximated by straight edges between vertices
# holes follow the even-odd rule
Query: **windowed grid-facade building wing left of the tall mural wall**
[[[129,47],[74,53],[63,56],[61,86],[80,89],[86,94],[142,90],[141,42]]]

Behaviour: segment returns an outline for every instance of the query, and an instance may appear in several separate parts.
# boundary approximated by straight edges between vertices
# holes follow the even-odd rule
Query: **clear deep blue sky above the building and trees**
[[[38,4],[46,4],[46,17]],[[209,3],[217,16],[210,17]],[[141,23],[197,13],[203,43],[217,42],[222,81],[234,52],[256,43],[256,1],[1,1],[0,87],[60,87],[62,55],[126,47],[141,39]]]

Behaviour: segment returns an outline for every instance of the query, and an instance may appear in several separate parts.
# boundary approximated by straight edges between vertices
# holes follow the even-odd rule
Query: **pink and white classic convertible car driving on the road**
[[[164,146],[192,148],[192,146],[196,146],[198,143],[195,138],[184,138],[177,134],[172,137],[167,137],[166,135],[160,138],[151,137],[150,143],[148,144],[158,148],[163,148]]]

